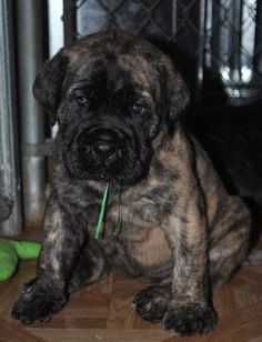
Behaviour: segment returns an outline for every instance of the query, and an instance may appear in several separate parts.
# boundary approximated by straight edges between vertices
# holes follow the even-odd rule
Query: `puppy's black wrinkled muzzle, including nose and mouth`
[[[77,133],[63,155],[71,177],[80,180],[133,183],[141,161],[131,132],[91,127]]]

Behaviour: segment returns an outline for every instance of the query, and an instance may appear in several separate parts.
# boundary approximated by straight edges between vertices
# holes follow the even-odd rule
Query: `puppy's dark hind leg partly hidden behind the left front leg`
[[[82,250],[72,278],[68,284],[68,292],[71,293],[80,288],[91,285],[109,273],[110,266],[107,264],[101,249],[95,242],[90,242]]]

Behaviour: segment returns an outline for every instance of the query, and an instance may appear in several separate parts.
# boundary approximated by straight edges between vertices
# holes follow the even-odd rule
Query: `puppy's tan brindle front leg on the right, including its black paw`
[[[180,213],[164,227],[173,250],[172,294],[163,318],[167,330],[179,335],[212,331],[216,313],[212,306],[208,269],[208,228],[201,197],[181,199]],[[184,210],[182,210],[185,204]],[[187,220],[183,213],[187,212]]]

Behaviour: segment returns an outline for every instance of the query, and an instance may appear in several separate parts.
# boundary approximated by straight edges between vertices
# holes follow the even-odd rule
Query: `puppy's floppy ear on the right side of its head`
[[[189,103],[189,90],[169,57],[162,59],[162,99],[165,103],[164,120],[167,131],[172,135],[180,114]]]

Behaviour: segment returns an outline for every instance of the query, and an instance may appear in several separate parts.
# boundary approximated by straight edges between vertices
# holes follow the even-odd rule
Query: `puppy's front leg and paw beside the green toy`
[[[77,215],[50,199],[44,240],[38,260],[37,276],[24,285],[13,305],[12,316],[23,324],[40,320],[46,323],[66,303],[66,284],[78,259],[83,233]]]

